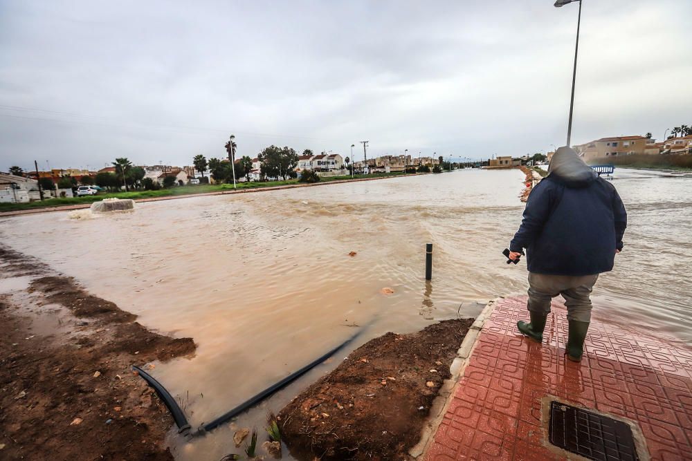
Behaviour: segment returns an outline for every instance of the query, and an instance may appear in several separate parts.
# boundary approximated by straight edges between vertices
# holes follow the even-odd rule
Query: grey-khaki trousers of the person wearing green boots
[[[538,314],[550,312],[550,301],[558,294],[565,298],[567,319],[591,321],[591,292],[599,274],[585,276],[534,274],[529,272],[527,308]]]

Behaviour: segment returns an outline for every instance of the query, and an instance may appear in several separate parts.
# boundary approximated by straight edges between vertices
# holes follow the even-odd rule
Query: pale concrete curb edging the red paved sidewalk
[[[475,348],[477,343],[476,339],[478,339],[478,335],[480,335],[480,332],[483,330],[485,321],[490,318],[490,314],[493,312],[493,309],[495,309],[495,303],[500,301],[500,299],[503,298],[495,298],[489,301],[480,314],[478,314],[478,317],[476,317],[471,327],[468,328],[464,341],[462,341],[462,345],[459,347],[459,350],[457,350],[457,357],[455,357],[449,367],[452,376],[445,380],[442,387],[439,388],[437,397],[432,401],[428,422],[424,426],[423,431],[421,431],[421,440],[408,451],[408,454],[413,458],[422,460],[425,453],[428,451],[428,447],[435,437],[437,428],[442,422],[444,415],[446,415],[449,404],[452,402],[452,397],[459,385],[459,378],[464,375],[466,365],[468,365],[473,348]]]

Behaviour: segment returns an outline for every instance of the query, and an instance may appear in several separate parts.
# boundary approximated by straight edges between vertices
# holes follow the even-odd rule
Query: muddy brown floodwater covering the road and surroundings
[[[473,317],[489,299],[525,292],[525,263],[507,265],[501,254],[520,223],[522,180],[518,170],[461,170],[141,203],[91,219],[36,214],[0,220],[0,238],[147,328],[192,337],[194,358],[151,373],[181,396],[193,428],[362,331],[330,364],[239,418],[264,440],[266,410],[359,344]],[[689,344],[692,175],[618,169],[613,184],[629,227],[615,270],[594,289],[594,315]],[[218,460],[242,452],[232,436],[227,426],[172,444],[181,460]]]

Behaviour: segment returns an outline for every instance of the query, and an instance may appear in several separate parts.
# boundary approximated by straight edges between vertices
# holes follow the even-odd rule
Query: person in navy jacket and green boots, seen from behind
[[[509,245],[512,260],[527,249],[531,322],[517,322],[522,335],[543,341],[550,302],[562,294],[570,326],[565,355],[581,361],[591,321],[591,291],[599,274],[612,270],[626,227],[627,213],[615,187],[574,149],[558,149],[548,176],[529,194],[521,226]]]

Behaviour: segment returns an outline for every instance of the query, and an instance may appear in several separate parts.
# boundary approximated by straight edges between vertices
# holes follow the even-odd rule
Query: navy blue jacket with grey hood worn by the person
[[[627,213],[610,182],[570,147],[559,148],[529,194],[509,250],[527,250],[529,272],[583,276],[612,270]]]

